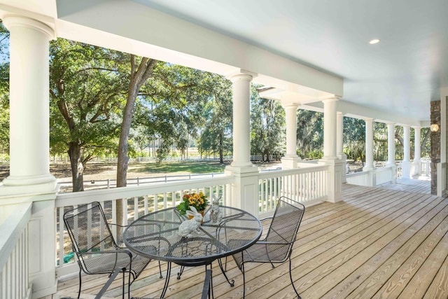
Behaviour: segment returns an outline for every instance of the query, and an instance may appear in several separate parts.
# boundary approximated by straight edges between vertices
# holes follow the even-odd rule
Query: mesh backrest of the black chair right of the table
[[[277,259],[286,259],[290,256],[304,211],[305,207],[300,202],[295,202],[284,196],[279,198],[265,238],[267,242],[285,244],[274,247]]]

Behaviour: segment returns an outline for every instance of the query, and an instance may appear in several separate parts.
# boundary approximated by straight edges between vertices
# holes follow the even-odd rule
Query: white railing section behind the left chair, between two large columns
[[[55,207],[57,209],[57,265],[58,276],[78,271],[78,266],[73,264],[74,256],[71,252],[71,242],[64,228],[62,216],[64,211],[77,207],[80,204],[100,202],[108,221],[116,223],[116,200],[125,200],[123,215],[125,224],[134,221],[158,209],[175,207],[181,202],[186,192],[204,192],[222,195],[222,204],[230,204],[230,184],[232,177],[223,176],[215,179],[198,179],[190,181],[177,181],[169,183],[148,184],[144,186],[130,186],[106,190],[87,190],[76,193],[60,193],[57,195]],[[116,236],[117,232],[113,231]]]

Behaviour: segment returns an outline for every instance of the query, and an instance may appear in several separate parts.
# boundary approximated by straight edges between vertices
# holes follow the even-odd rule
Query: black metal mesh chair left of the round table
[[[69,232],[73,252],[78,258],[78,298],[81,292],[81,272],[109,274],[110,277],[112,274],[116,276],[119,272],[123,272],[123,298],[125,298],[125,274],[129,273],[127,295],[130,298],[132,282],[139,277],[151,259],[133,254],[125,247],[118,246],[109,227],[111,224],[107,222],[99,202],[83,204],[66,211],[64,223]],[[162,277],[160,263],[159,270]]]

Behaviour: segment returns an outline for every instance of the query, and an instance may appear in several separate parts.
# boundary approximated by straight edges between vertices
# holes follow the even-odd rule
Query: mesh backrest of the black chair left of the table
[[[99,202],[66,211],[64,223],[78,259],[80,253],[115,250],[117,247]]]

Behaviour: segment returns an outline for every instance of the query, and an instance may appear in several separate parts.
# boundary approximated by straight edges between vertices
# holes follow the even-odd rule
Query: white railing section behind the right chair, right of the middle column
[[[276,200],[286,196],[297,202],[318,202],[327,197],[328,166],[286,169],[260,173],[258,188],[260,214],[275,209]]]

